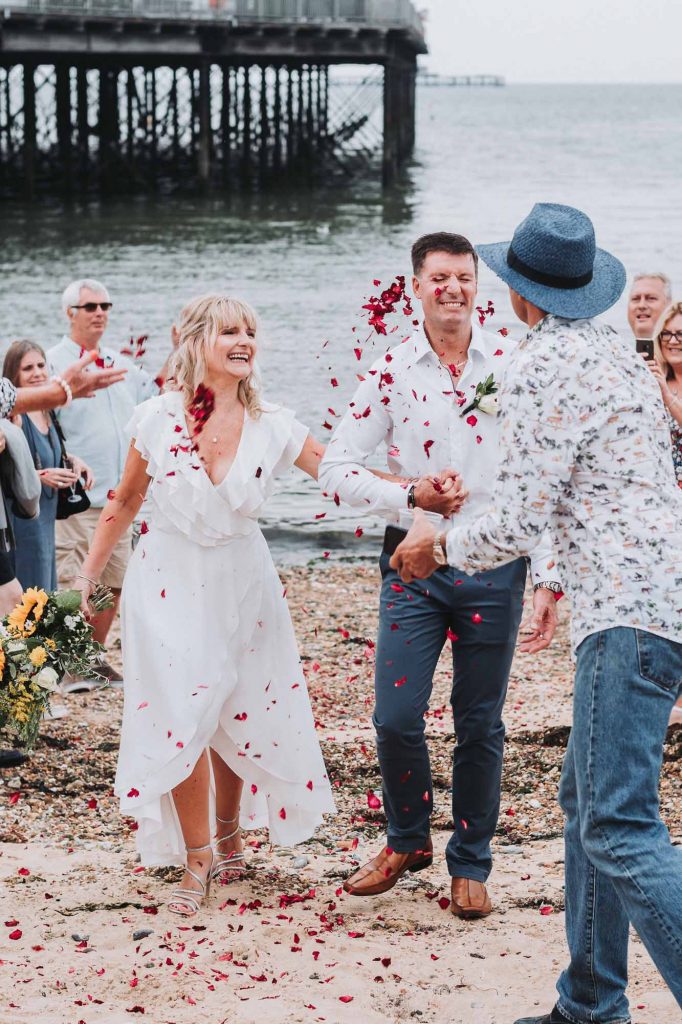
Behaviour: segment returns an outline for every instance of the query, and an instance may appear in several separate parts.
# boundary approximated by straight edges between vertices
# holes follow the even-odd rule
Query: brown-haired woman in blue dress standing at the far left
[[[45,352],[33,341],[13,341],[5,353],[2,373],[16,387],[45,385],[48,381]],[[81,478],[85,489],[89,489],[93,483],[92,472],[76,455],[69,455],[70,466],[61,465],[59,435],[50,413],[27,413],[15,417],[14,423],[24,431],[42,484],[38,518],[12,516],[16,577],[24,590],[28,587],[56,590],[57,493]]]

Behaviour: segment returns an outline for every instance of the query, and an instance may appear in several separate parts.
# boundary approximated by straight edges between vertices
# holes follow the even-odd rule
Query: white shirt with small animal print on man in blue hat
[[[492,568],[549,525],[573,649],[616,626],[682,643],[682,492],[641,356],[605,325],[548,315],[512,355],[500,401],[495,510],[451,530],[449,561]]]

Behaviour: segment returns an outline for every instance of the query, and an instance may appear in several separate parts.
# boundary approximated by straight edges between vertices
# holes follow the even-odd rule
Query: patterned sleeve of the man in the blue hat
[[[542,380],[542,374],[510,379],[501,406],[504,420],[494,509],[447,534],[447,561],[472,573],[527,555],[534,584],[554,580],[548,526],[573,469],[580,420],[561,393],[560,382]]]

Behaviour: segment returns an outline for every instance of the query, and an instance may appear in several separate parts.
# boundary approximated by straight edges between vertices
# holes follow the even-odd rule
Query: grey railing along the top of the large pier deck
[[[412,0],[9,0],[3,10],[77,17],[346,22],[407,28],[424,36]]]

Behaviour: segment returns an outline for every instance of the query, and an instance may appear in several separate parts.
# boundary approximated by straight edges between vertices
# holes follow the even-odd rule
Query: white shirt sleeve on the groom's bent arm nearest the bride
[[[319,464],[318,481],[327,495],[338,495],[351,508],[394,515],[408,507],[406,488],[367,469],[377,449],[390,441],[392,421],[373,378],[363,381],[334,431]]]

